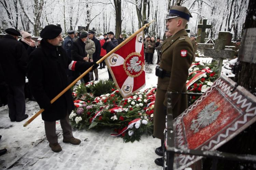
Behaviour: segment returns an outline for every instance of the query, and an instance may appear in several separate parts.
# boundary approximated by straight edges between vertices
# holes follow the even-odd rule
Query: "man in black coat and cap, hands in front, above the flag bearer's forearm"
[[[89,62],[89,57],[87,56],[87,52],[85,50],[85,43],[87,41],[87,33],[82,32],[79,38],[73,43],[71,46],[71,55],[72,60],[81,61],[81,62]],[[76,71],[77,75],[82,74],[82,72]],[[77,78],[77,77],[76,77]],[[83,77],[85,83],[90,81],[89,74],[86,74]]]

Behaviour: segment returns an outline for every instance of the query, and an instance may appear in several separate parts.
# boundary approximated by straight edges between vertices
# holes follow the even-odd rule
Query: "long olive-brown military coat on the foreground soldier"
[[[186,92],[188,69],[194,56],[192,43],[185,29],[172,37],[168,37],[162,44],[160,68],[171,73],[170,77],[158,78],[153,136],[164,139],[165,107],[167,106],[167,91]],[[172,96],[173,116],[180,115],[187,108],[186,95]]]

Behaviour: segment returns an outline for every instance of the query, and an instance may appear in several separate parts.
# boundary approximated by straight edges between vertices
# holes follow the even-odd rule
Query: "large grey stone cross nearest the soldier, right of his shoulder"
[[[225,46],[231,43],[232,34],[230,32],[219,32],[218,39],[215,40],[214,49],[205,49],[204,56],[210,56],[218,60],[218,77],[221,76],[223,58],[233,58],[234,50],[225,50]]]

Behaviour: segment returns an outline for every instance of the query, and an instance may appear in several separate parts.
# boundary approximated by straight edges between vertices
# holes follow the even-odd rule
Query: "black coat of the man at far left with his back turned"
[[[0,39],[0,64],[7,84],[25,84],[28,54],[24,46],[11,35]]]

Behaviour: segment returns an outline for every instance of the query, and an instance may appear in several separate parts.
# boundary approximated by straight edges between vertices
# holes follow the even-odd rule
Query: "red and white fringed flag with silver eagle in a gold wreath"
[[[145,86],[143,34],[140,32],[105,60],[113,80],[125,98]]]

